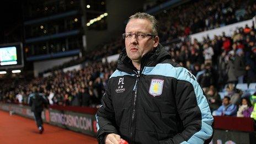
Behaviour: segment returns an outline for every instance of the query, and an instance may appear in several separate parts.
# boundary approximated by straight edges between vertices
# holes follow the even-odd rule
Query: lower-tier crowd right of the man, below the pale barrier
[[[237,83],[256,83],[255,29],[239,28],[231,37],[223,33],[193,44],[166,46],[173,61],[196,76],[209,100],[213,115],[248,117],[253,111],[254,94],[236,89]],[[218,92],[227,92],[221,100]],[[256,88],[254,86],[254,92]]]

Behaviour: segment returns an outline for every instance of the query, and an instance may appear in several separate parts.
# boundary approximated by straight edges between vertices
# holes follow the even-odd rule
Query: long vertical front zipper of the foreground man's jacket
[[[129,139],[131,140],[130,143],[135,142],[135,117],[136,117],[136,99],[137,99],[137,87],[138,87],[138,81],[140,81],[140,74],[138,74],[136,71],[136,82],[134,86],[134,98],[132,100],[132,113],[131,113],[131,123],[130,123],[130,131],[129,131]]]

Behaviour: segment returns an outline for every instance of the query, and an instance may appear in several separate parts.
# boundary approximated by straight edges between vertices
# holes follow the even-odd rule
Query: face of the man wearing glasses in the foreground
[[[125,33],[143,33],[152,34],[152,24],[146,19],[131,19],[126,25]],[[137,39],[135,35],[132,38],[125,39],[126,53],[134,62],[140,62],[141,57],[147,52],[150,52],[157,47],[159,42],[158,36],[156,38],[146,36],[144,39]]]

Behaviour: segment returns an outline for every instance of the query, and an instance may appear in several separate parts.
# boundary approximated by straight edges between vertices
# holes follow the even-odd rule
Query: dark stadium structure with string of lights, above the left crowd
[[[39,72],[84,57],[86,52],[115,39],[128,15],[142,8],[143,1],[136,2],[136,6],[132,2],[135,1],[6,1],[3,13],[10,10],[14,14],[3,14],[6,23],[1,26],[1,43],[23,42],[24,70],[36,71],[34,75],[38,76]],[[47,64],[42,65],[43,61]]]

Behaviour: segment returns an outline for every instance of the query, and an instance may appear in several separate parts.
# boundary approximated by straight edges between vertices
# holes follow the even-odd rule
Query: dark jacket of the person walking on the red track
[[[29,105],[31,106],[31,111],[41,112],[44,106],[47,107],[47,100],[41,93],[31,93],[29,95]]]

